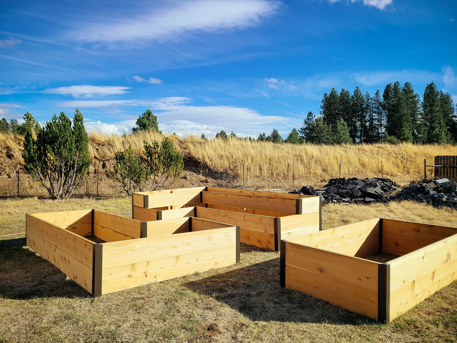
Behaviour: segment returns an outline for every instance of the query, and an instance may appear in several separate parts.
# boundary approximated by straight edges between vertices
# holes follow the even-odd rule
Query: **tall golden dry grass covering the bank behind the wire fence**
[[[90,155],[99,161],[112,160],[116,151],[125,150],[128,145],[141,154],[145,143],[161,141],[164,137],[144,131],[123,136],[90,132]],[[204,140],[195,135],[182,140],[176,135],[168,137],[176,149],[213,171],[241,177],[247,168],[250,177],[290,180],[293,169],[295,179],[303,182],[339,177],[339,161],[341,176],[381,176],[383,164],[384,176],[400,179],[398,182],[408,181],[423,177],[424,159],[427,164],[433,164],[436,155],[457,155],[457,147],[452,145],[293,145],[244,139]],[[0,169],[23,164],[21,140],[21,136],[0,134],[0,150],[9,157],[0,158]],[[428,168],[428,176],[430,171]]]

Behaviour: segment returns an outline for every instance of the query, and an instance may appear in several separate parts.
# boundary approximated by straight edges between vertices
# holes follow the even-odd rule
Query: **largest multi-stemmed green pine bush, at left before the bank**
[[[27,131],[23,157],[26,171],[53,199],[69,198],[82,184],[89,166],[89,140],[83,116],[74,113],[73,126],[64,112],[46,122],[34,139]]]

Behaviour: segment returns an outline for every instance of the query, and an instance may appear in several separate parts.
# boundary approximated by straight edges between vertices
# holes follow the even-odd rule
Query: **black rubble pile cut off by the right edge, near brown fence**
[[[457,183],[437,177],[432,180],[413,181],[409,187],[396,193],[395,198],[432,204],[435,207],[457,208]]]

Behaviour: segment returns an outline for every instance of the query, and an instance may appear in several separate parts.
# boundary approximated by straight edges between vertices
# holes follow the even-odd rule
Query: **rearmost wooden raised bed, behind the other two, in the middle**
[[[241,242],[279,251],[281,239],[321,230],[317,196],[197,187],[133,193],[136,220],[194,216],[241,228]]]

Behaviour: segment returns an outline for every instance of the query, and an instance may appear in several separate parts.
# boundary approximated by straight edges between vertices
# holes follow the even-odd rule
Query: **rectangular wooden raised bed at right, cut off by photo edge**
[[[457,279],[457,228],[372,219],[281,241],[281,286],[390,322]],[[388,263],[363,257],[400,255]]]

